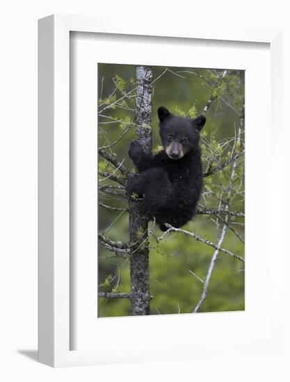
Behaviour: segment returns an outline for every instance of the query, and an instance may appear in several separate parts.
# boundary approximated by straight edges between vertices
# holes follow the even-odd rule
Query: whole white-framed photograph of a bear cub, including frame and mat
[[[40,362],[280,351],[281,56],[270,28],[40,19]]]

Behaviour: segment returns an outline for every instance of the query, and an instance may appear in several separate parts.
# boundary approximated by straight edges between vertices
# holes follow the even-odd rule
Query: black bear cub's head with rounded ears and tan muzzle
[[[173,115],[164,106],[158,109],[161,141],[170,159],[181,159],[200,150],[200,131],[206,122],[204,115],[194,119]]]

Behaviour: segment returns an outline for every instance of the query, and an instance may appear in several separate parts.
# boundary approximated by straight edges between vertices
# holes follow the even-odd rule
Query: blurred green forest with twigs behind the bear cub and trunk
[[[200,214],[182,227],[216,244],[225,225],[221,247],[244,257],[244,72],[230,69],[152,67],[152,149],[161,149],[156,110],[166,106],[177,115],[196,117],[206,109],[202,130],[204,172],[221,163],[223,169],[204,178]],[[131,171],[129,142],[135,138],[134,113],[136,65],[98,64],[99,147],[104,147]],[[243,119],[242,119],[243,120]],[[232,172],[232,158],[236,168]],[[111,240],[129,241],[128,204],[124,186],[113,181],[115,167],[99,156],[99,233]],[[113,174],[113,175],[110,175]],[[118,174],[122,176],[122,174]],[[232,187],[228,185],[232,178]],[[107,208],[109,207],[109,208]],[[115,208],[112,209],[111,207]],[[206,214],[226,210],[239,216]],[[204,214],[202,214],[204,211]],[[152,222],[150,222],[152,228]],[[151,314],[192,313],[204,288],[215,249],[184,233],[170,232],[162,242],[159,227],[150,236]],[[129,255],[98,249],[99,292],[129,292]],[[219,251],[211,274],[207,297],[200,312],[244,310],[244,263]],[[129,299],[98,298],[99,317],[131,315]]]

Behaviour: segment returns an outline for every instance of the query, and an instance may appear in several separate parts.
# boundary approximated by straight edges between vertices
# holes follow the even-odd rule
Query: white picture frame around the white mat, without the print
[[[57,366],[111,363],[110,351],[70,350],[70,32],[115,33],[232,42],[264,42],[271,49],[271,132],[280,124],[282,97],[282,32],[270,28],[204,28],[200,25],[179,25],[172,31],[166,22],[150,26],[138,22],[126,25],[118,19],[52,15],[39,21],[39,360]],[[281,158],[275,146],[275,158]],[[277,151],[277,152],[276,152]],[[278,162],[277,162],[278,163]],[[280,160],[282,163],[282,160]],[[271,173],[272,174],[272,173]],[[277,173],[275,190],[281,183]],[[278,186],[277,186],[278,185]],[[271,208],[271,217],[281,222],[280,208]],[[282,235],[279,224],[275,235]],[[279,240],[277,240],[279,242]],[[281,240],[282,242],[282,240]],[[275,280],[282,273],[282,244],[277,244]],[[274,277],[274,276],[273,276]],[[132,357],[122,348],[113,348],[113,362],[130,360],[170,359],[211,356],[239,351],[277,351],[282,346],[279,291],[275,289],[275,311],[269,317],[271,331],[266,340],[224,343],[207,342],[198,349],[184,348],[177,356],[168,351],[168,344],[154,345]],[[160,351],[161,350],[161,351]],[[149,355],[150,354],[150,355]],[[129,358],[130,357],[130,358]]]

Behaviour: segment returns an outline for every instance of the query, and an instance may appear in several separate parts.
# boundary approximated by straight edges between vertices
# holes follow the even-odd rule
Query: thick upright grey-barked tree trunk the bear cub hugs
[[[136,69],[136,139],[147,153],[152,149],[152,69]],[[132,315],[150,315],[148,219],[140,213],[138,201],[129,202]]]

